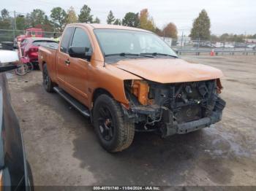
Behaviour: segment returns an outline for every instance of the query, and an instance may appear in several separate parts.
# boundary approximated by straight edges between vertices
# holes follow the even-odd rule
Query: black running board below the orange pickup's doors
[[[83,116],[90,117],[89,109],[87,109],[87,107],[83,104],[80,104],[80,102],[73,98],[71,95],[59,87],[53,87],[53,90],[56,91],[56,93],[59,93],[59,95],[61,95],[62,98],[64,98],[67,102],[69,102],[69,104],[75,107],[75,109],[78,109],[78,111],[83,114]]]

